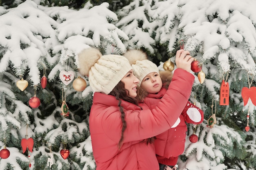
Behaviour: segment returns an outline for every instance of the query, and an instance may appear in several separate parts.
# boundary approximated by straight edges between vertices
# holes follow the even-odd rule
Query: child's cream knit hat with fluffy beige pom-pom
[[[157,65],[147,60],[147,55],[141,50],[132,49],[124,53],[124,56],[129,60],[132,65],[133,74],[139,79],[140,86],[142,80],[146,75],[152,72],[159,73]]]

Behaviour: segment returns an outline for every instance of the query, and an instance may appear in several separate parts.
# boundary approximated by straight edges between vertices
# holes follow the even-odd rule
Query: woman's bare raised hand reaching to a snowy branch
[[[175,59],[177,68],[182,68],[188,72],[191,71],[191,63],[194,58],[189,54],[189,51],[184,51],[183,49],[177,51]]]

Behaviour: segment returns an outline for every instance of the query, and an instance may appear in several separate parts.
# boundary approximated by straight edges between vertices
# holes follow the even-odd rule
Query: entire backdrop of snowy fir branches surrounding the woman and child
[[[192,144],[188,125],[186,149],[179,170],[256,169],[255,106],[244,106],[243,87],[255,86],[256,1],[254,0],[135,0],[113,12],[104,2],[82,9],[46,7],[27,0],[18,7],[0,7],[0,146],[10,151],[0,159],[0,169],[49,169],[49,152],[56,170],[95,169],[88,115],[92,90],[76,92],[65,86],[60,71],[77,70],[77,54],[95,46],[102,53],[144,49],[159,69],[163,62],[175,62],[175,51],[184,49],[202,64],[203,84],[195,75],[191,102],[204,110],[204,122],[195,130],[199,141]],[[161,46],[161,47],[159,47]],[[164,50],[162,50],[164,49]],[[47,88],[40,86],[46,70]],[[16,82],[29,82],[20,91]],[[230,85],[229,106],[220,106],[221,81]],[[41,99],[38,108],[29,107],[29,98]],[[70,116],[62,117],[63,93]],[[217,124],[207,128],[207,119],[216,113]],[[245,131],[249,115],[249,132]],[[33,152],[22,154],[20,141],[34,139]],[[67,143],[68,159],[60,150]],[[30,158],[28,157],[30,155]]]

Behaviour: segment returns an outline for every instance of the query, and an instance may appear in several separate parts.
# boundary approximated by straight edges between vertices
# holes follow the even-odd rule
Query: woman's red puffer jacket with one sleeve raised
[[[191,73],[177,69],[171,82],[173,86],[153,110],[146,104],[141,105],[141,110],[135,104],[122,101],[127,128],[120,150],[122,123],[118,101],[112,95],[94,93],[89,126],[96,170],[159,170],[155,148],[144,139],[173,126],[189,99],[193,81]]]

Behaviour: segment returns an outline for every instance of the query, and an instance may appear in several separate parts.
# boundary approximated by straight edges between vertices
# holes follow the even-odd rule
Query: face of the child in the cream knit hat
[[[144,77],[140,86],[148,93],[158,93],[161,90],[163,83],[160,75],[157,72],[152,72]]]

